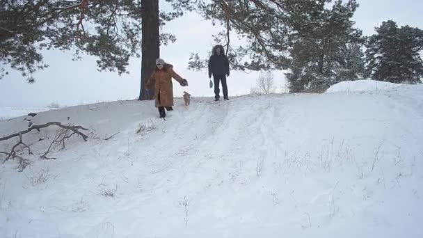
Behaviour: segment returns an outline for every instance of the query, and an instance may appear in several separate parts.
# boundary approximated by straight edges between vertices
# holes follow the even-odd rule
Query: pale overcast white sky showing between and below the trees
[[[393,19],[399,26],[410,25],[423,29],[422,0],[358,0],[360,7],[354,19],[364,35],[372,35],[374,27]],[[198,52],[207,56],[212,48],[212,33],[218,26],[203,20],[195,13],[188,13],[163,29],[177,36],[177,41],[161,47],[161,58],[172,63],[174,69],[189,81],[188,88],[174,86],[175,96],[188,90],[193,96],[212,96],[208,87],[207,71],[187,70],[189,55]],[[72,61],[69,53],[46,51],[45,63],[50,67],[34,74],[35,84],[28,84],[17,72],[0,80],[0,106],[42,107],[51,102],[60,105],[89,104],[94,102],[133,100],[138,97],[141,77],[141,58],[133,58],[129,74],[118,76],[115,72],[97,72],[96,58],[84,56],[82,61]],[[232,71],[228,78],[229,95],[250,92],[258,73],[246,74]],[[277,86],[285,83],[283,74],[275,74]]]

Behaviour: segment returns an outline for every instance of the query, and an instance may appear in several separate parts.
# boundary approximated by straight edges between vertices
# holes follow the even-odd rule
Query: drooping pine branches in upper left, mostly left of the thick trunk
[[[46,49],[74,51],[77,60],[83,54],[97,56],[99,71],[127,73],[129,58],[141,56],[143,19],[159,17],[151,26],[159,28],[192,6],[190,0],[166,0],[173,6],[170,13],[143,13],[142,5],[148,8],[158,1],[0,0],[0,79],[8,74],[6,68],[12,68],[32,83],[33,72],[48,66],[42,57]],[[162,44],[175,41],[174,35],[166,33],[155,33],[154,38]],[[152,50],[158,51],[157,40],[153,45],[157,49]]]

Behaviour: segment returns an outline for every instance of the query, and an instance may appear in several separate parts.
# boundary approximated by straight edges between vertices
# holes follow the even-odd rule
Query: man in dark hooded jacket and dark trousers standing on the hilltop
[[[209,78],[212,78],[212,74],[214,79],[214,100],[219,100],[220,82],[222,82],[223,99],[229,100],[228,85],[226,84],[226,77],[229,77],[229,61],[228,57],[225,56],[225,50],[222,45],[213,47],[213,53],[209,59]]]

